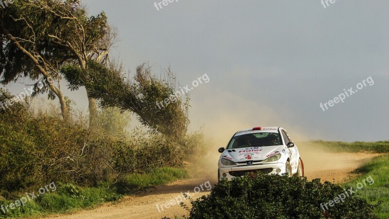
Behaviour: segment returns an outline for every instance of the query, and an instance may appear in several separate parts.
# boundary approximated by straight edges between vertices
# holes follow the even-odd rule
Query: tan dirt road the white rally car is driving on
[[[305,175],[308,179],[321,178],[322,180],[335,183],[340,183],[353,177],[354,169],[375,156],[377,154],[326,153],[323,151],[304,153],[301,151]],[[160,219],[163,217],[174,218],[174,216],[187,215],[188,212],[177,205],[176,199],[179,200],[181,192],[186,193],[189,191],[189,194],[194,199],[209,194],[210,191],[207,190],[207,184],[204,185],[204,183],[209,181],[213,187],[217,182],[217,167],[212,168],[212,170],[215,170],[213,171],[214,174],[206,174],[197,179],[178,181],[152,188],[141,195],[127,196],[120,202],[106,203],[93,210],[82,210],[70,215],[52,215],[50,219]],[[203,184],[203,190],[200,188],[201,184]],[[195,193],[195,191],[199,192]],[[172,206],[168,208],[161,207],[165,202],[171,202]],[[184,203],[188,203],[188,201],[184,201]],[[157,208],[157,205],[159,208]]]

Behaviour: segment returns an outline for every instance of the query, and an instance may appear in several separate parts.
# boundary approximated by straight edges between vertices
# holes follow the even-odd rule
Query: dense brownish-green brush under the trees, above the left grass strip
[[[0,93],[0,101],[9,98],[9,93]],[[19,103],[0,109],[0,186],[15,191],[53,181],[95,185],[134,172],[182,166],[183,150],[162,135],[137,132],[127,140],[89,129],[82,119],[70,121],[75,122],[32,115]]]

